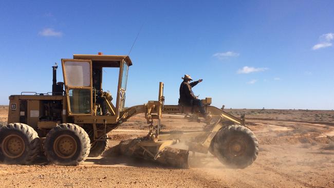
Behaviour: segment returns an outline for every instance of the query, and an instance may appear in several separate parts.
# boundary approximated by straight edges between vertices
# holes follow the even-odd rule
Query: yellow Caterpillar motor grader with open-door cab
[[[57,82],[58,66],[53,66],[52,92],[9,97],[8,124],[0,127],[0,162],[30,164],[44,151],[51,163],[78,165],[87,157],[100,156],[107,148],[108,133],[141,113],[150,131],[145,137],[122,141],[118,148],[124,155],[188,167],[189,151],[210,152],[237,168],[247,167],[257,157],[258,142],[244,117],[210,106],[211,98],[202,100],[209,112],[202,117],[196,107],[164,105],[160,82],[157,101],[125,108],[132,65],[127,55],[74,54],[73,59],[61,61],[64,82]],[[116,101],[102,90],[105,67],[119,68]],[[205,122],[206,127],[202,131],[162,131],[160,120],[167,114]],[[187,141],[188,150],[170,147],[182,140]]]

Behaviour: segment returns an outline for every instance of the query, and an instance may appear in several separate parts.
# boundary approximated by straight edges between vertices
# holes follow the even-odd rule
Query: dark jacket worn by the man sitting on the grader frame
[[[184,106],[191,106],[193,99],[196,99],[194,92],[191,90],[192,87],[197,85],[199,82],[191,82],[188,84],[187,82],[183,81],[180,85],[180,99],[179,103]]]

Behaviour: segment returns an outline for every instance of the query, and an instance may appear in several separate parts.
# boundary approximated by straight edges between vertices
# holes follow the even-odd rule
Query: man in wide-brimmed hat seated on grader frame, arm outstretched
[[[180,99],[179,103],[184,106],[198,106],[200,113],[205,116],[206,111],[203,107],[202,101],[197,99],[197,97],[194,95],[194,92],[192,91],[192,87],[197,85],[199,82],[202,82],[202,79],[199,79],[195,82],[190,82],[193,79],[188,75],[184,74],[184,77],[182,77],[183,82],[180,85]]]

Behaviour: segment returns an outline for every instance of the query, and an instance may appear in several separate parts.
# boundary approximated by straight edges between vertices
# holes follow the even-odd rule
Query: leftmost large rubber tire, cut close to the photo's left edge
[[[0,126],[0,162],[30,164],[40,153],[41,140],[36,131],[23,123]]]

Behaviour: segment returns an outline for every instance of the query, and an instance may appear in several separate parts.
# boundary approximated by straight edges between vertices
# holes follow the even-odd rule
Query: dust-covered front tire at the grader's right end
[[[213,154],[231,168],[251,165],[258,154],[258,141],[254,133],[242,125],[230,125],[218,131],[213,139]]]

